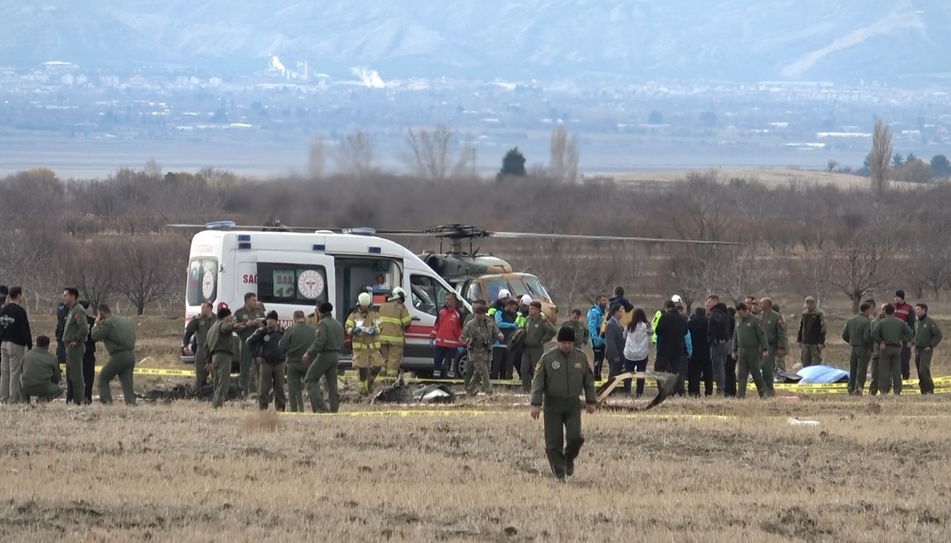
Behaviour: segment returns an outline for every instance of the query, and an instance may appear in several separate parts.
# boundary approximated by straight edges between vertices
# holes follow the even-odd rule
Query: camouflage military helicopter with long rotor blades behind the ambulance
[[[426,230],[376,230],[383,237],[434,237],[439,239],[439,252],[423,252],[417,255],[433,271],[456,289],[456,293],[467,301],[484,300],[489,303],[498,298],[500,291],[507,290],[514,300],[528,295],[533,301],[539,301],[542,311],[549,320],[557,323],[558,308],[545,285],[528,269],[516,272],[512,264],[493,256],[491,253],[478,253],[473,241],[482,238],[510,240],[591,240],[599,242],[670,242],[670,243],[708,243],[735,244],[731,242],[705,242],[692,240],[668,240],[659,238],[632,238],[623,236],[590,236],[570,234],[540,234],[534,232],[491,232],[485,228],[468,224],[443,224]],[[449,250],[444,251],[443,240],[449,241]],[[463,250],[462,242],[469,241],[469,250]]]

